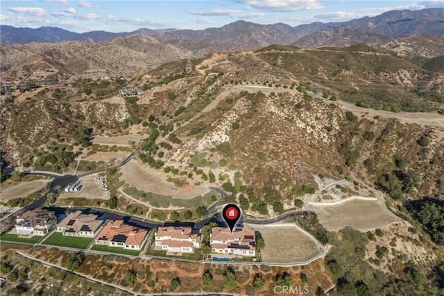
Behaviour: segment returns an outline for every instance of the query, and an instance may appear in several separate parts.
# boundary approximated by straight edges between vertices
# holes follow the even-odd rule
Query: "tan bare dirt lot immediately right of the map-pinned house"
[[[265,247],[261,251],[263,262],[302,262],[323,252],[316,242],[296,226],[282,224],[282,227],[267,227],[266,225],[245,223],[244,227],[252,231],[259,231],[264,238]]]

